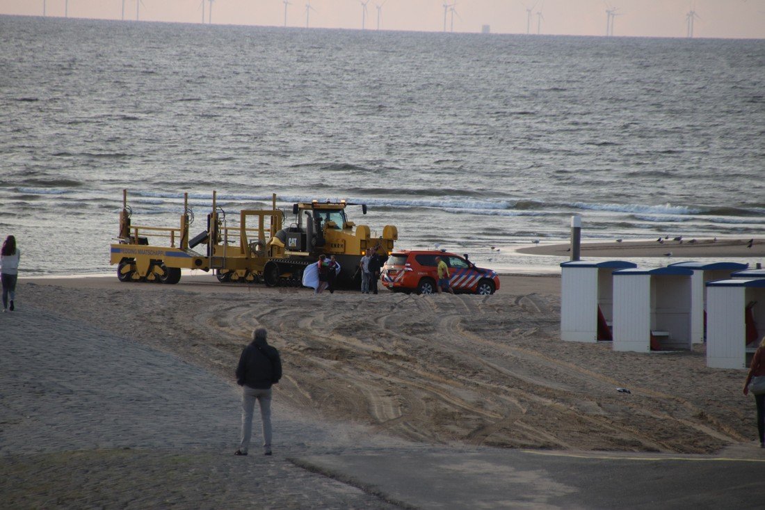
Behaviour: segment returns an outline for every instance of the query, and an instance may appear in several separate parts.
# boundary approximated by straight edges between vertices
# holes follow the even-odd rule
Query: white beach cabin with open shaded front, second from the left
[[[672,266],[614,271],[614,351],[690,349],[692,275]]]

